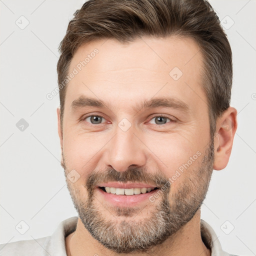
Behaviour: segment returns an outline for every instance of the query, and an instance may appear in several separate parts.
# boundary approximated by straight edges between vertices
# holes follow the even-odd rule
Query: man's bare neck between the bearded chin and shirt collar
[[[84,227],[78,218],[76,230],[65,238],[67,256],[84,255],[107,255],[116,256],[117,253],[109,250],[95,240]],[[126,253],[118,256],[127,255]],[[154,246],[147,252],[132,252],[130,256],[181,256],[181,255],[200,255],[210,256],[211,251],[207,249],[201,239],[200,233],[200,210],[193,218],[181,227],[175,234],[167,238],[163,243]]]

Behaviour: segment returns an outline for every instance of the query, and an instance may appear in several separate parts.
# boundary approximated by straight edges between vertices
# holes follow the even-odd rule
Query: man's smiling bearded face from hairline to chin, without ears
[[[201,71],[191,38],[98,40],[74,54],[62,166],[79,218],[107,248],[147,250],[199,209],[214,155]]]

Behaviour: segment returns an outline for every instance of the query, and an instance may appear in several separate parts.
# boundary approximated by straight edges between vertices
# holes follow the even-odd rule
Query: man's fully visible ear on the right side
[[[213,169],[215,170],[225,168],[228,163],[237,128],[236,115],[236,109],[228,107],[216,120],[213,163]]]

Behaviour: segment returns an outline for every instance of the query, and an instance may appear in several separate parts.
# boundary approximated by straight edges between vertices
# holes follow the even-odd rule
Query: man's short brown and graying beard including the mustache
[[[61,165],[66,176],[67,169],[63,153],[62,159]],[[161,244],[194,216],[206,196],[213,161],[212,140],[198,165],[199,167],[192,169],[190,166],[186,169],[187,173],[181,174],[185,176],[178,191],[170,194],[171,184],[166,177],[152,175],[137,168],[128,169],[125,172],[117,172],[114,169],[100,173],[93,172],[88,176],[85,185],[88,192],[86,199],[81,199],[83,197],[75,184],[67,178],[66,182],[78,216],[93,238],[116,253],[142,253],[149,252],[154,246]],[[114,220],[110,220],[106,219],[106,214],[104,214],[105,212],[109,214],[109,209],[104,208],[101,203],[98,203],[99,207],[95,204],[98,200],[94,196],[94,184],[103,180],[153,181],[153,184],[157,184],[158,187],[164,185],[166,189],[165,191],[158,191],[160,194],[158,200],[153,203],[148,200],[146,207],[149,205],[149,208],[152,208],[150,205],[155,205],[150,209],[149,214],[144,212],[143,215],[148,217],[141,218],[140,214],[145,209],[140,207],[110,207],[109,209],[112,211],[114,209],[115,212],[114,216],[111,215]],[[139,221],[136,220],[138,215]]]

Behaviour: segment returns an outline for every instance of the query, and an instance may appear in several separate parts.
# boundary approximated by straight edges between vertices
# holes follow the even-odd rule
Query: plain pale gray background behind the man
[[[0,0],[0,243],[50,235],[61,220],[77,215],[60,166],[59,98],[46,94],[57,86],[57,47],[82,3]],[[238,128],[227,167],[213,171],[201,218],[224,250],[255,255],[256,1],[210,3],[233,52],[231,106]],[[28,123],[23,131],[16,126],[24,124],[21,118]]]

